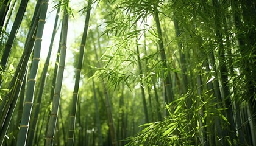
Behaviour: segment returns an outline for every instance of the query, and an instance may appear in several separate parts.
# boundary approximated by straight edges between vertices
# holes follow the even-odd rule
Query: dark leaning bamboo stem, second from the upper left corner
[[[0,71],[1,72],[5,72],[5,70],[6,70],[7,63],[8,63],[9,57],[10,57],[10,52],[12,50],[12,45],[16,38],[16,34],[19,30],[19,27],[21,25],[21,21],[23,19],[23,16],[24,16],[24,13],[25,13],[25,10],[27,7],[27,2],[28,2],[28,0],[22,0],[20,3],[18,13],[16,15],[15,21],[12,26],[12,30],[10,32],[9,38],[5,45],[4,53],[2,54],[2,58],[0,61],[0,67],[1,67]],[[0,75],[0,88],[1,88],[1,85],[2,85],[2,76]]]

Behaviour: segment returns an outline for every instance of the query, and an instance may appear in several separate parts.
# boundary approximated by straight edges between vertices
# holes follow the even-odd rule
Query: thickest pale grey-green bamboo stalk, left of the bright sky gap
[[[24,109],[22,114],[23,116],[21,119],[17,145],[26,145],[27,131],[29,130],[30,115],[31,115],[32,106],[34,102],[35,82],[37,80],[37,71],[38,71],[38,65],[40,61],[41,41],[43,36],[47,9],[48,9],[48,0],[43,0],[41,2],[40,19],[38,21],[37,36],[35,38],[34,57],[32,60],[29,79],[27,81],[26,99],[24,103]]]

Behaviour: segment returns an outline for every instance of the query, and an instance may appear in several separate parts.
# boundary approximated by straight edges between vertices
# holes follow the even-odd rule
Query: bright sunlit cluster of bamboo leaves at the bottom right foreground
[[[169,105],[166,104],[168,116],[163,121],[146,123],[141,125],[143,128],[139,133],[126,140],[127,145],[195,145],[194,139],[200,141],[202,137],[201,130],[203,128],[212,127],[215,124],[216,118],[221,118],[226,124],[229,124],[226,117],[221,114],[221,111],[226,109],[212,109],[216,105],[212,100],[212,96],[205,94],[205,102],[194,92],[187,92]],[[193,99],[192,108],[187,108],[186,100]],[[199,104],[199,106],[198,106]],[[210,109],[205,110],[204,109]],[[204,112],[202,114],[200,111]],[[210,117],[209,117],[210,116]],[[192,117],[189,119],[188,117]],[[199,120],[204,123],[204,126],[199,125]],[[208,120],[208,124],[206,123]],[[192,130],[190,130],[192,127]],[[219,137],[221,138],[221,137]],[[199,143],[198,145],[204,145]]]

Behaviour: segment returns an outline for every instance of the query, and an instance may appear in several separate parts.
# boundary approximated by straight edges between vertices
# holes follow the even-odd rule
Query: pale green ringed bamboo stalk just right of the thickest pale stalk
[[[65,1],[68,4],[68,1]],[[62,81],[63,81],[63,73],[65,68],[65,60],[66,60],[66,40],[68,36],[68,7],[67,5],[64,5],[64,11],[63,11],[63,27],[62,27],[62,47],[60,50],[60,63],[59,63],[59,70],[57,73],[57,79],[56,79],[56,86],[54,90],[54,97],[52,100],[52,109],[51,114],[49,118],[48,123],[48,129],[46,132],[45,137],[45,145],[54,145],[54,135],[55,135],[55,129],[57,124],[57,117],[58,117],[58,111],[59,111],[59,105],[60,105],[60,94],[62,89]]]

